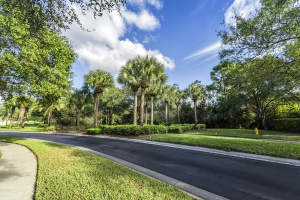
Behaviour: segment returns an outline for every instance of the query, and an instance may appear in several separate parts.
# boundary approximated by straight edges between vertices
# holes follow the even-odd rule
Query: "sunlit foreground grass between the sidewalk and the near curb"
[[[76,148],[18,137],[0,141],[30,148],[37,156],[35,199],[192,199],[103,157]]]

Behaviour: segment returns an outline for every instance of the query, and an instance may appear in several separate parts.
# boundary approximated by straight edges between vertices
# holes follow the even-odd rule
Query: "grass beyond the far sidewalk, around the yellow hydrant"
[[[259,135],[256,135],[254,130],[220,129],[220,128],[211,128],[210,129],[209,128],[209,129],[204,129],[204,130],[190,130],[190,131],[184,132],[184,134],[300,141],[300,134],[279,132],[279,131],[273,131],[273,130],[259,130]],[[268,135],[272,135],[272,136],[268,136]],[[283,135],[283,136],[280,136],[280,135]],[[295,137],[295,136],[298,136],[298,137]]]

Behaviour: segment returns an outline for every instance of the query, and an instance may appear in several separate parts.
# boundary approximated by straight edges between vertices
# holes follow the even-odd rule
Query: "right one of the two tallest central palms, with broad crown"
[[[141,87],[140,95],[140,126],[143,126],[143,109],[144,109],[144,96],[145,89],[149,84],[156,80],[158,84],[164,84],[167,81],[167,75],[164,73],[163,64],[157,60],[156,57],[137,56],[136,67],[138,68],[138,82]]]

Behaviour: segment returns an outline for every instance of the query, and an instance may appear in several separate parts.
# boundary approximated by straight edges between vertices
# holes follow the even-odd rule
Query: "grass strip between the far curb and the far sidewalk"
[[[156,134],[146,139],[152,141],[210,147],[226,151],[239,151],[275,157],[300,159],[299,143],[182,134]]]

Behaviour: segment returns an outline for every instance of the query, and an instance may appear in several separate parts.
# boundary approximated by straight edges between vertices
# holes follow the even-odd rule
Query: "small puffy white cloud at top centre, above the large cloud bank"
[[[127,23],[134,24],[141,30],[154,30],[160,27],[159,20],[145,9],[141,10],[138,14],[125,10],[122,16],[126,19]]]

